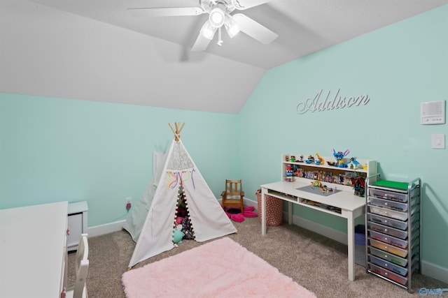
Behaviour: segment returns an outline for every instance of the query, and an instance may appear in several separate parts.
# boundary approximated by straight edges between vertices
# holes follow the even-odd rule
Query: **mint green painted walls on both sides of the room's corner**
[[[180,121],[217,198],[223,180],[237,176],[256,200],[260,184],[280,179],[281,154],[333,148],[377,160],[386,179],[421,177],[423,260],[448,270],[448,154],[430,149],[430,135],[448,135],[448,124],[419,124],[422,101],[448,100],[447,36],[443,6],[297,59],[269,70],[238,115],[0,94],[0,209],[87,200],[90,226],[124,218],[125,198],[137,202],[151,179],[153,151],[172,140],[167,124]],[[371,100],[295,112],[321,89]],[[235,130],[239,145],[223,146]],[[345,231],[342,219],[300,214]]]

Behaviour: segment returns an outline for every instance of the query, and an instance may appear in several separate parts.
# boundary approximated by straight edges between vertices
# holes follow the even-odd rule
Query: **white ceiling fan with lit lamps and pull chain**
[[[246,10],[267,2],[269,0],[199,0],[199,7],[139,7],[127,8],[127,10],[135,17],[170,17],[208,13],[209,17],[202,25],[192,48],[193,51],[203,51],[209,46],[216,31],[218,31],[217,44],[220,46],[223,44],[223,40],[221,40],[222,27],[225,28],[230,38],[242,31],[260,43],[265,45],[272,43],[278,37],[276,33],[242,13],[231,15],[235,10]]]

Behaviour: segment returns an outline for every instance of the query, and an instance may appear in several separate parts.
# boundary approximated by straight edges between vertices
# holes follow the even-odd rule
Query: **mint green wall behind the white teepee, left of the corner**
[[[0,94],[0,209],[87,200],[89,226],[123,219],[165,151],[168,124],[181,138],[217,198],[235,177],[235,114]]]

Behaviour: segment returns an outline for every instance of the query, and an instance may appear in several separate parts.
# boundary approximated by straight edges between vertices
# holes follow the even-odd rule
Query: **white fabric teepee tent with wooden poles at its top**
[[[128,220],[125,225],[125,229],[129,228],[128,232],[131,234],[130,230],[134,230],[133,239],[138,239],[129,267],[174,248],[173,230],[176,227],[176,207],[181,187],[185,193],[188,216],[196,241],[207,241],[237,232],[183,146],[180,140],[182,128],[183,124],[179,128],[178,123],[176,131],[172,128],[174,140],[167,152],[160,179],[157,184],[152,181],[146,188],[147,202],[142,202],[140,207],[143,209],[140,216],[146,214],[141,230],[138,227],[141,220],[137,216]],[[155,173],[153,179],[158,178],[157,176]],[[151,192],[154,193],[153,198],[150,198]]]

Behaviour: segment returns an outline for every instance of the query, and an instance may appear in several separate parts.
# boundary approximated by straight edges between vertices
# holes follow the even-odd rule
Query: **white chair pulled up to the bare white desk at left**
[[[87,278],[87,271],[89,269],[89,243],[87,241],[87,234],[81,234],[81,239],[76,251],[75,260],[75,274],[76,281],[72,288],[66,290],[66,298],[85,298],[87,297],[87,287],[85,280]]]

